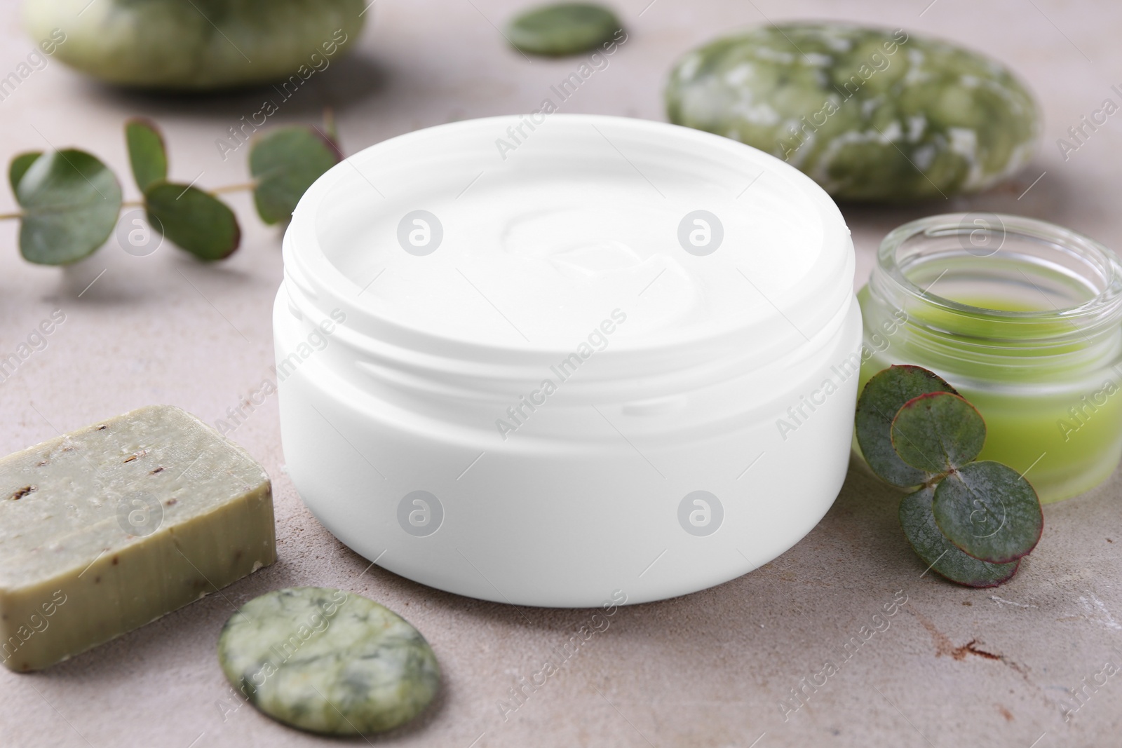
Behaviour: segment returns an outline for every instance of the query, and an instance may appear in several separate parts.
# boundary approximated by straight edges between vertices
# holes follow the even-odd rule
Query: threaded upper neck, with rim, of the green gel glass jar
[[[902,324],[905,347],[950,370],[1043,377],[1113,361],[1122,347],[1118,258],[1043,221],[965,213],[904,224],[881,243],[866,293],[876,305],[866,326]]]

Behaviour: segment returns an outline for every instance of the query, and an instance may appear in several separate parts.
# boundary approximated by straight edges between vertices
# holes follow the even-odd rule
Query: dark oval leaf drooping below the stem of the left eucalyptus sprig
[[[148,223],[201,260],[221,260],[233,253],[241,229],[226,203],[197,187],[158,182],[144,195]]]

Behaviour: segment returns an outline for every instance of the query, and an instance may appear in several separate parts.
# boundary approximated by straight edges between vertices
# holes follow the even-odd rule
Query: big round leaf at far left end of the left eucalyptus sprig
[[[39,265],[67,265],[105,243],[121,211],[121,186],[95,156],[54,150],[21,164],[19,250]],[[9,172],[9,177],[11,172]]]

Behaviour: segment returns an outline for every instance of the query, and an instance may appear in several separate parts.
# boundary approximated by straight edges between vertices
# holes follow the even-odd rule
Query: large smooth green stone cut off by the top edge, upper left
[[[36,43],[57,43],[54,57],[108,83],[201,91],[296,76],[293,89],[342,56],[362,30],[366,4],[29,0],[24,20]]]

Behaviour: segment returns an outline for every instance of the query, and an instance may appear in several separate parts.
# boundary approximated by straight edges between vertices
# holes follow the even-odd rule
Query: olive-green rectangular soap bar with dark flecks
[[[0,460],[0,657],[34,671],[276,561],[268,475],[149,406]]]

